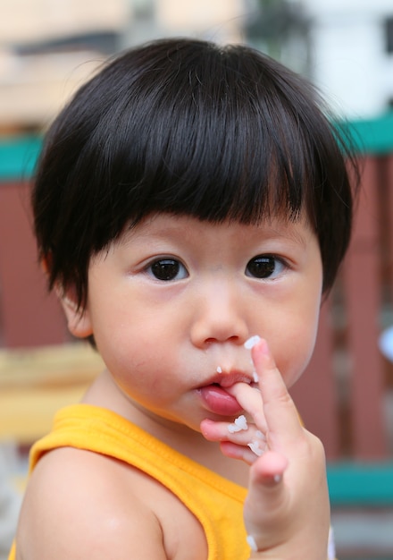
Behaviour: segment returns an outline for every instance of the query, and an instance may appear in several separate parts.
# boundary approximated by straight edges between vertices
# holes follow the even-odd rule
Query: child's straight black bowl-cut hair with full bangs
[[[46,134],[32,205],[49,286],[85,305],[90,258],[155,211],[257,224],[305,210],[329,291],[350,237],[351,161],[315,89],[254,49],[130,49]]]

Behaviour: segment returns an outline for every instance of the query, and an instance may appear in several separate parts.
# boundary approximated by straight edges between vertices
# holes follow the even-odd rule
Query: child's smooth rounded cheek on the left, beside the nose
[[[111,298],[91,293],[97,349],[127,393],[167,391],[162,385],[164,378],[176,371],[171,349],[179,342],[179,327],[173,324],[179,318],[172,309],[162,310],[142,296],[123,289]]]

